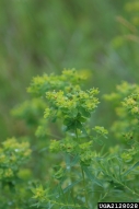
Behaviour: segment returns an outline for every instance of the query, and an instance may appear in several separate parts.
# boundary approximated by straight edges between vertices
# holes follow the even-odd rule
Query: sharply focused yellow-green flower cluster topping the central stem
[[[47,92],[46,97],[49,107],[45,111],[45,118],[63,118],[63,124],[68,129],[81,129],[82,123],[91,116],[91,113],[99,104],[95,97],[97,89],[90,91],[76,91],[72,93],[65,93],[63,91]]]

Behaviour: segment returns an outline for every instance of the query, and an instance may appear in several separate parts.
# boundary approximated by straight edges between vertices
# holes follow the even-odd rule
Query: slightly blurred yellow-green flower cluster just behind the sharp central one
[[[43,77],[35,77],[27,89],[27,92],[35,95],[42,95],[45,97],[46,92],[54,90],[66,90],[86,80],[89,71],[76,71],[74,69],[65,69],[60,76],[44,74]]]

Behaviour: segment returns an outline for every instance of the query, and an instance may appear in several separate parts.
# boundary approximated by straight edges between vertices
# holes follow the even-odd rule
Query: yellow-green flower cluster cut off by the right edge
[[[112,131],[117,139],[128,141],[126,132],[136,129],[138,126],[139,85],[123,82],[117,85],[115,93],[106,95],[105,98],[113,102],[113,105],[115,105],[115,113],[119,118],[114,121]],[[137,135],[134,135],[134,139],[136,138]]]

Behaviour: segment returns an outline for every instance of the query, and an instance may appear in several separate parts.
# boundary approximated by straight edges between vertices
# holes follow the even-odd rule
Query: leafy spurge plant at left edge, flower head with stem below
[[[25,140],[19,142],[14,137],[2,142],[0,147],[0,208],[13,209],[27,207],[27,193],[21,169],[31,156],[30,143]],[[22,199],[22,200],[21,200]]]

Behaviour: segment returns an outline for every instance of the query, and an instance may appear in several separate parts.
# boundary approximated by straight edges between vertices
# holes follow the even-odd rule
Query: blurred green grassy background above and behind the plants
[[[90,69],[86,88],[100,89],[92,125],[109,127],[115,115],[103,101],[123,80],[139,80],[137,0],[0,1],[0,140],[25,135],[10,111],[28,95],[33,77],[63,68]]]

